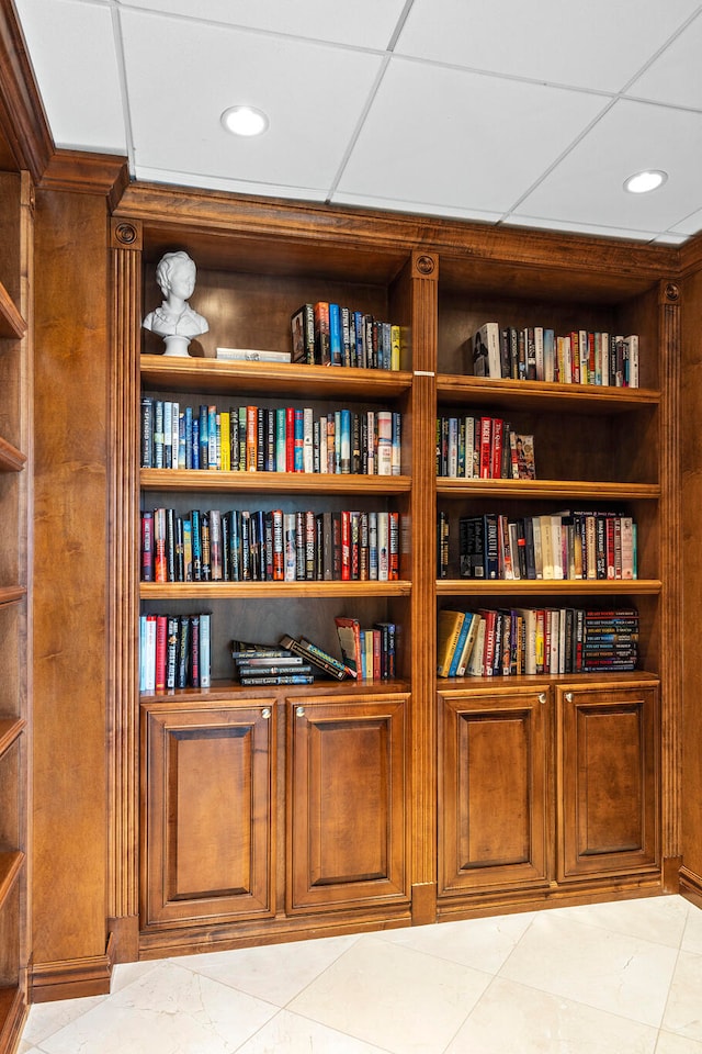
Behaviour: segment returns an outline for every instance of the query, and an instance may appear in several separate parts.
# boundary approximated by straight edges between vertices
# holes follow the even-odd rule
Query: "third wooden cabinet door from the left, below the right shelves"
[[[439,693],[439,893],[547,881],[548,686]]]

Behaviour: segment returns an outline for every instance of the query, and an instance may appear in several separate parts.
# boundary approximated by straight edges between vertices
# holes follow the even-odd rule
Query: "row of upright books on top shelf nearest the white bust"
[[[400,328],[341,304],[303,304],[291,317],[293,362],[399,370]]]

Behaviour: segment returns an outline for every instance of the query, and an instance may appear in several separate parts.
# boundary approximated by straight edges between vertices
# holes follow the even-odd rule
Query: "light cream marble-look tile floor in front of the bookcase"
[[[702,1054],[702,911],[657,897],[117,966],[20,1054]]]

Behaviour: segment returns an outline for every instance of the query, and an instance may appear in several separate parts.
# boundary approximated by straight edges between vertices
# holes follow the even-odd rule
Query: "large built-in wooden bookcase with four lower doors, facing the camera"
[[[330,229],[319,210],[225,195],[208,200],[212,212],[203,223],[192,203],[185,191],[134,188],[113,218],[115,318],[117,330],[128,334],[120,345],[122,374],[115,379],[115,397],[126,407],[117,463],[122,478],[133,481],[123,491],[120,520],[136,525],[140,509],[158,505],[294,508],[304,502],[319,509],[383,502],[404,517],[403,549],[394,582],[155,583],[139,582],[138,532],[125,535],[117,559],[128,571],[115,601],[125,636],[116,647],[132,654],[129,669],[137,669],[139,613],[186,613],[204,605],[218,639],[212,689],[139,696],[135,674],[121,695],[117,725],[135,729],[138,720],[140,728],[145,825],[143,866],[132,876],[132,896],[143,954],[201,948],[212,942],[215,924],[216,946],[226,946],[284,939],[312,932],[309,927],[339,932],[510,905],[582,902],[613,890],[660,890],[665,857],[676,849],[670,817],[660,809],[675,778],[661,727],[679,691],[679,672],[663,644],[679,588],[664,545],[676,522],[669,466],[677,424],[668,373],[679,338],[664,255],[642,249],[642,266],[632,269],[624,266],[623,249],[608,246],[604,253],[597,242],[531,232],[496,235],[450,222],[422,228],[418,240],[414,223],[373,214],[339,213]],[[140,329],[141,317],[158,300],[156,262],[169,248],[184,248],[196,260],[193,306],[210,323],[188,359],[161,356],[158,343]],[[223,345],[288,350],[292,312],[317,300],[353,304],[396,322],[403,336],[400,371],[215,359],[215,347]],[[641,386],[474,378],[466,345],[490,319],[506,326],[636,333]],[[193,405],[206,399],[222,408],[249,399],[279,405],[310,401],[324,412],[340,401],[389,405],[403,414],[401,474],[139,468],[141,393],[181,403],[191,399]],[[449,412],[509,417],[532,433],[537,478],[437,479],[435,419]],[[455,572],[437,578],[440,511],[455,525],[473,511],[523,516],[574,503],[622,508],[635,517],[635,580],[475,582]],[[437,677],[442,607],[517,604],[635,606],[641,618],[636,670]],[[292,632],[338,654],[337,614],[396,623],[396,682],[344,688],[318,681],[304,689],[267,688],[256,699],[251,688],[231,680],[231,639],[274,641]],[[189,729],[186,751],[178,745],[181,726]],[[241,754],[242,728],[259,743],[257,765],[264,760],[264,775]],[[333,744],[331,729],[338,732]],[[490,758],[499,760],[496,769]],[[250,859],[241,856],[241,844],[253,844],[242,843],[245,830],[213,816],[208,830],[197,832],[188,826],[190,814],[180,797],[185,787],[197,794],[191,776],[204,766],[211,775],[203,800],[214,800],[233,764],[249,765],[251,786],[261,793],[256,819],[241,803],[228,810],[242,817],[246,839],[249,823],[256,828],[256,873]],[[339,797],[326,797],[321,789],[330,778],[328,765],[333,765]],[[627,807],[620,801],[614,809],[589,788],[618,765]],[[375,790],[361,795],[361,814],[352,819],[342,803],[370,785]],[[324,819],[313,830],[309,817],[322,816],[322,800]],[[518,808],[524,800],[531,803],[528,816]],[[176,831],[178,823],[184,826]],[[607,845],[584,844],[588,825],[608,832]],[[228,854],[234,877],[197,863],[203,837]],[[176,839],[181,845],[192,841],[190,863],[171,854]],[[343,852],[335,849],[339,839],[348,846]],[[373,849],[381,844],[382,864]],[[476,845],[484,848],[485,859],[472,856]],[[137,845],[127,848],[135,859]],[[533,866],[517,861],[516,853],[523,852]],[[181,866],[191,871],[185,874]],[[369,874],[376,876],[371,885]],[[229,886],[241,893],[223,894]]]

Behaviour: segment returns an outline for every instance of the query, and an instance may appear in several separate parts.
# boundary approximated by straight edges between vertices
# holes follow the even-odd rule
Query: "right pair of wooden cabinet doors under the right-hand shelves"
[[[660,870],[655,680],[439,692],[439,897]]]

